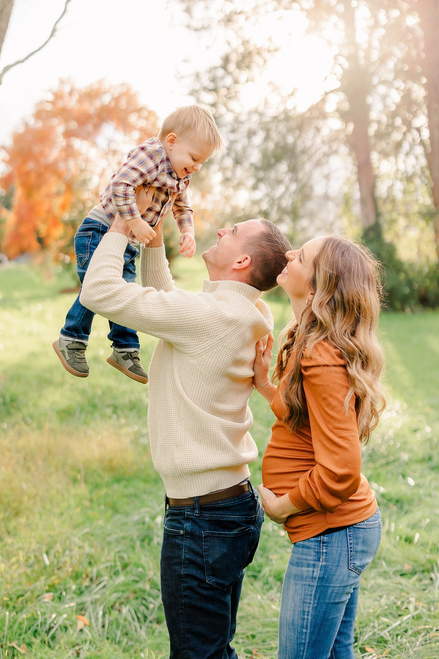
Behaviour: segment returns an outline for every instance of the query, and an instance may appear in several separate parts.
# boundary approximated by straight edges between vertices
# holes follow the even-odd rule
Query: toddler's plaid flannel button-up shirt
[[[126,162],[113,174],[101,192],[101,204],[111,222],[116,213],[123,219],[138,217],[140,213],[136,205],[136,187],[152,185],[155,187],[153,198],[142,219],[154,227],[169,212],[172,194],[177,193],[172,213],[181,231],[182,227],[194,226],[194,211],[186,195],[190,179],[190,174],[184,179],[178,178],[163,144],[157,137],[151,137],[130,151]]]

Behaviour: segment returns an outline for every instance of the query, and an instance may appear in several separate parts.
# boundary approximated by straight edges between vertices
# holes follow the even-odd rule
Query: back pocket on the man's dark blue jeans
[[[252,529],[232,532],[203,531],[203,554],[206,581],[228,590],[238,581],[247,564]]]

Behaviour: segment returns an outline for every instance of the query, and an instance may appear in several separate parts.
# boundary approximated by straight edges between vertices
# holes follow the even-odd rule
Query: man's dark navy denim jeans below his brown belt
[[[244,568],[251,563],[264,515],[257,492],[217,503],[167,507],[161,593],[170,659],[238,659],[236,629]]]

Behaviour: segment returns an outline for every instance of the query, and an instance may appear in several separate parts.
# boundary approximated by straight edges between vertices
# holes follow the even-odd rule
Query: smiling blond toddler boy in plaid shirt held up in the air
[[[153,227],[172,208],[180,233],[180,254],[194,256],[194,212],[188,203],[186,188],[192,174],[224,143],[209,110],[199,105],[180,107],[166,117],[159,136],[134,148],[126,162],[113,174],[101,203],[90,211],[74,237],[76,271],[82,283],[91,256],[113,224],[116,214],[126,220],[140,243],[149,243],[155,236]],[[140,214],[136,205],[136,187],[155,188],[147,210]],[[124,254],[123,278],[136,280],[138,250],[128,244]],[[53,343],[61,364],[72,375],[86,378],[88,337],[93,312],[79,301],[72,304],[59,339]],[[108,338],[113,348],[107,362],[129,378],[146,384],[148,376],[140,364],[140,344],[136,331],[109,321]]]

